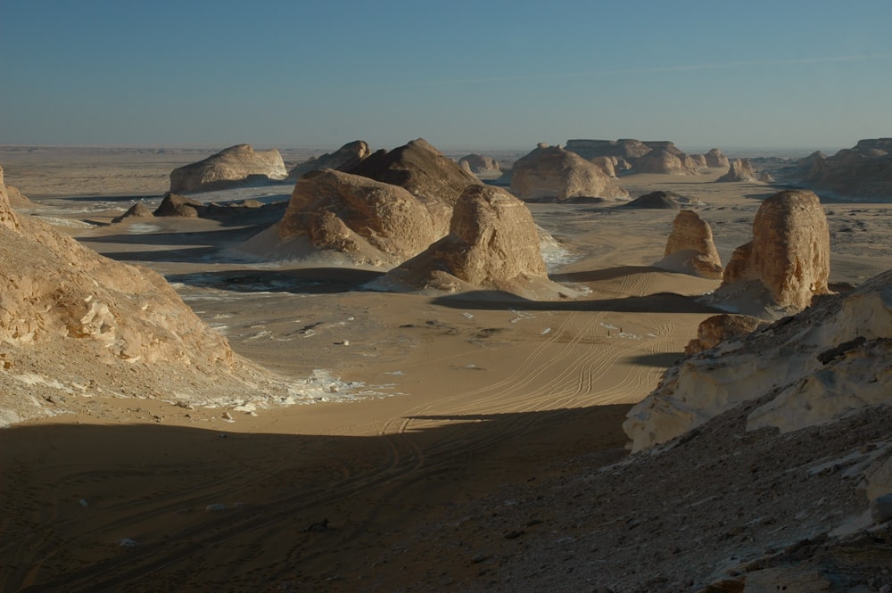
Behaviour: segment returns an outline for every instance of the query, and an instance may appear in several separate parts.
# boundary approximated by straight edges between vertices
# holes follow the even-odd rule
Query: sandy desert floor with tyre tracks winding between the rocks
[[[109,224],[135,200],[159,202],[170,169],[203,156],[4,148],[0,163],[32,198],[29,213],[161,272],[245,358],[295,382],[322,369],[348,384],[333,401],[232,421],[215,408],[85,398],[78,414],[0,431],[0,589],[525,590],[493,578],[498,566],[477,550],[541,521],[493,534],[459,531],[455,517],[478,498],[529,498],[626,455],[624,414],[714,313],[695,297],[717,281],[651,267],[675,212],[531,204],[573,254],[553,279],[587,291],[549,302],[367,292],[381,270],[227,251],[271,219]],[[777,187],[713,183],[721,173],[621,184],[698,198],[726,262]],[[888,208],[826,204],[831,282],[892,268]]]

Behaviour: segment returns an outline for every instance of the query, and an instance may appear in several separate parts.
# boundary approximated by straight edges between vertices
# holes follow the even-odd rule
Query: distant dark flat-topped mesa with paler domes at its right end
[[[589,161],[603,157],[622,159],[626,166],[617,169],[628,169],[629,173],[693,175],[706,166],[704,155],[689,155],[665,140],[567,140],[566,150]]]

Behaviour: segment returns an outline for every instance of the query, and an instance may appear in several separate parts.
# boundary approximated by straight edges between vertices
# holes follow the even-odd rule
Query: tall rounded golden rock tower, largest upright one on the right
[[[809,191],[787,190],[762,202],[753,240],[734,251],[715,295],[732,306],[762,301],[796,311],[828,292],[829,276],[830,230],[821,202]]]

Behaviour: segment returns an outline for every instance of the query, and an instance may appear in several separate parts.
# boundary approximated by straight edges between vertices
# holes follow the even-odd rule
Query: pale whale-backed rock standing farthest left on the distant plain
[[[203,161],[173,169],[170,193],[207,192],[252,182],[287,177],[285,162],[277,149],[255,151],[251,144],[230,146]]]

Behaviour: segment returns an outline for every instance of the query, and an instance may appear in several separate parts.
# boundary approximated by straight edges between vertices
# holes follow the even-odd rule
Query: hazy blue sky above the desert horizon
[[[0,0],[0,144],[880,136],[890,0]]]

